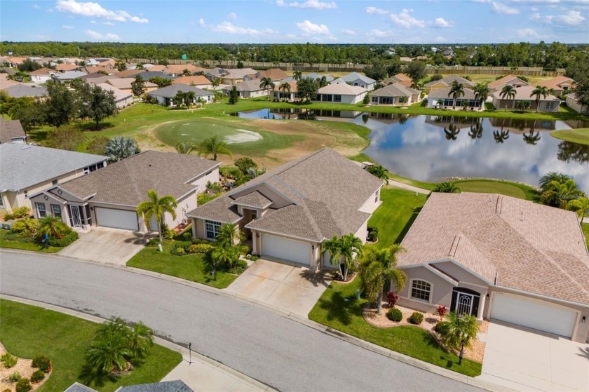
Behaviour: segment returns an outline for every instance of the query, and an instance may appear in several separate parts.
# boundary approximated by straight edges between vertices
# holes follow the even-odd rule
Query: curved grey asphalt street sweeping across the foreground
[[[108,266],[0,252],[0,292],[142,320],[280,391],[480,391],[257,306]]]

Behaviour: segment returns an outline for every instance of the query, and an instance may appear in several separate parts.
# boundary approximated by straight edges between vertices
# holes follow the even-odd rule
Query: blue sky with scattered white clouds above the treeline
[[[1,0],[0,40],[588,43],[589,0]]]

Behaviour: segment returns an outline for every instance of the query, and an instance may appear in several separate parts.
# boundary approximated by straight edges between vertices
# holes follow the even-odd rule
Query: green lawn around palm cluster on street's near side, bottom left
[[[0,342],[10,353],[21,358],[43,353],[53,361],[53,372],[39,392],[65,391],[75,381],[81,382],[84,353],[97,330],[96,323],[4,299],[0,299],[0,313]],[[93,388],[106,392],[158,382],[181,360],[180,353],[156,345],[146,362],[130,374]]]

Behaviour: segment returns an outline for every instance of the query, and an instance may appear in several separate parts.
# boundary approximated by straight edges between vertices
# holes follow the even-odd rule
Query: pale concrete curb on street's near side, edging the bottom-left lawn
[[[45,302],[34,301],[32,299],[13,297],[12,295],[6,295],[6,294],[0,294],[0,299],[6,299],[8,301],[13,301],[13,302],[20,302],[21,304],[32,305],[32,306],[36,306],[39,308],[48,309],[50,311],[57,311],[59,313],[67,314],[68,316],[74,316],[76,318],[81,318],[82,320],[87,320],[87,321],[90,321],[93,323],[104,323],[105,321],[108,321],[107,319],[102,318],[102,317],[93,316],[91,314],[83,313],[81,311],[74,311],[73,309],[67,309],[62,306],[46,304]],[[224,365],[223,363],[217,362],[216,360],[214,360],[212,358],[209,358],[207,356],[203,356],[202,354],[197,353],[196,351],[191,351],[191,353],[189,353],[189,350],[184,346],[180,346],[180,344],[175,344],[173,342],[170,342],[167,339],[163,339],[163,338],[157,337],[157,336],[154,336],[154,343],[158,344],[160,346],[163,346],[166,349],[170,349],[172,351],[176,351],[176,352],[180,353],[180,355],[182,356],[182,360],[184,360],[184,356],[191,355],[193,360],[196,359],[202,363],[206,363],[208,365],[211,365],[212,367],[217,367],[219,370],[228,374],[233,379],[238,379],[239,381],[242,381],[244,384],[248,384],[248,386],[250,386],[252,388],[256,388],[258,391],[278,392],[275,389],[271,388],[270,386],[263,384],[262,382],[257,381],[256,379],[252,379],[251,377],[248,377],[247,375],[245,375],[241,372],[238,372],[237,370],[235,370],[231,367],[228,367],[227,365]]]

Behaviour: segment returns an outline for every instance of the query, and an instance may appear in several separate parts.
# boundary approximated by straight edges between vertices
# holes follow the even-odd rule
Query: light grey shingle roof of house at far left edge
[[[106,156],[12,143],[0,144],[0,153],[0,190],[13,191],[107,159]]]

